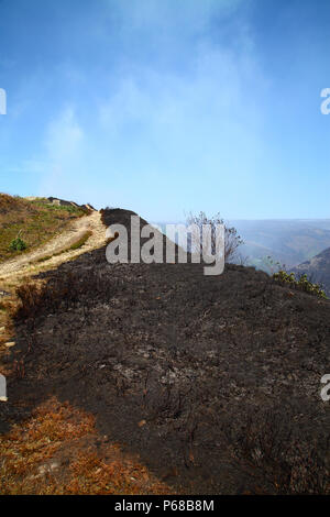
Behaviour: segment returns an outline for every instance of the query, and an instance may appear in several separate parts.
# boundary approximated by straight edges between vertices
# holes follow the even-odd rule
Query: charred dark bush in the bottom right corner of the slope
[[[276,409],[249,414],[228,433],[232,455],[255,481],[255,491],[277,495],[330,494],[330,437],[305,440],[292,414]]]

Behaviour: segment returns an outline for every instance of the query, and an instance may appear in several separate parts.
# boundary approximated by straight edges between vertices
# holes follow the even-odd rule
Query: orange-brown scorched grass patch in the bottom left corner
[[[0,436],[0,494],[168,494],[136,458],[98,437],[95,419],[52,398]]]

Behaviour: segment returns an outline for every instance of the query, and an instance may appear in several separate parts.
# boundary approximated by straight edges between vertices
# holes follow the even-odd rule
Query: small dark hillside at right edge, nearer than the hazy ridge
[[[320,284],[330,297],[330,248],[323,250],[310,261],[292,268],[296,276],[307,274],[312,283]]]

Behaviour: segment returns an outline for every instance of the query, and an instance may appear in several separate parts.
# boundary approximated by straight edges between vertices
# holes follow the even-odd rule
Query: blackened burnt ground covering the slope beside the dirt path
[[[233,453],[251,417],[262,432],[277,413],[300,442],[329,435],[327,300],[243,266],[205,276],[198,264],[111,265],[105,249],[50,273],[46,294],[16,322],[9,361],[25,374],[9,380],[7,421],[56,395],[195,494],[260,491]]]

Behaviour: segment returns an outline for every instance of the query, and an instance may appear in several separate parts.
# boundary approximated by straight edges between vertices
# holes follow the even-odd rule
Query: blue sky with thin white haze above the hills
[[[0,190],[330,218],[328,0],[0,0]]]

